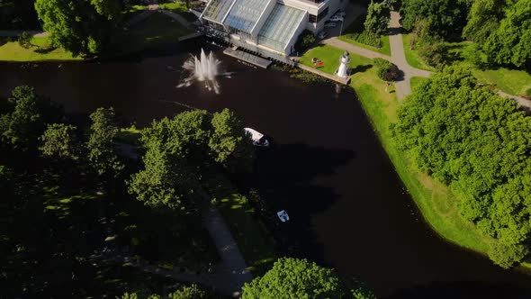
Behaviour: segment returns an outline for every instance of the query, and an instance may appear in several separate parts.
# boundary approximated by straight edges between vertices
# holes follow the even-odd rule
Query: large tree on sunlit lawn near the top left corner
[[[54,44],[75,56],[94,56],[110,41],[121,4],[121,0],[36,0],[35,9]]]

